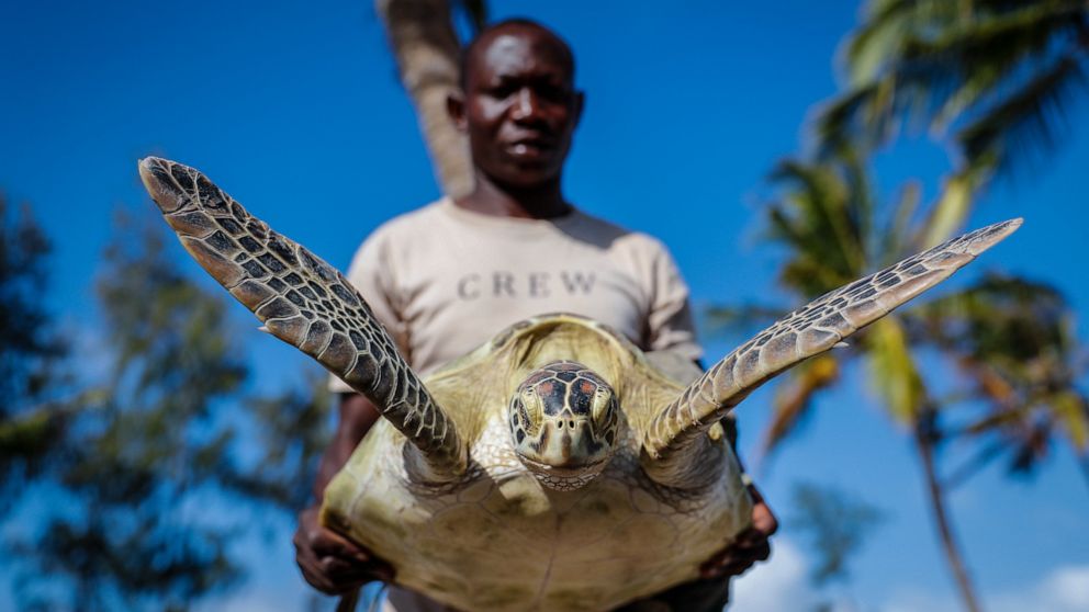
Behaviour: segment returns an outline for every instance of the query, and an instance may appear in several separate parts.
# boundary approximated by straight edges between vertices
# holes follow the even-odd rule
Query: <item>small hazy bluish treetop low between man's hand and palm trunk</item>
[[[816,553],[809,578],[815,586],[850,579],[847,559],[862,547],[884,514],[842,490],[799,483],[792,499],[795,514],[787,524],[801,532]]]

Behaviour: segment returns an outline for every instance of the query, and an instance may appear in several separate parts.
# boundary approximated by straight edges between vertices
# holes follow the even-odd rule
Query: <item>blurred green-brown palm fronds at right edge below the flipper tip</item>
[[[1079,387],[1087,360],[1058,290],[989,274],[919,308],[910,324],[954,359],[968,382],[961,399],[989,407],[952,432],[983,446],[954,483],[1000,455],[1012,473],[1031,473],[1056,433],[1089,453],[1089,399]]]

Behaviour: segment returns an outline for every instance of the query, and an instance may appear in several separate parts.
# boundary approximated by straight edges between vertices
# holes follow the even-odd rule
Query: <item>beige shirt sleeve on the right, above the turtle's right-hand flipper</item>
[[[647,314],[647,345],[652,351],[672,351],[692,361],[704,351],[696,342],[688,285],[673,256],[656,240],[652,259],[651,304]]]

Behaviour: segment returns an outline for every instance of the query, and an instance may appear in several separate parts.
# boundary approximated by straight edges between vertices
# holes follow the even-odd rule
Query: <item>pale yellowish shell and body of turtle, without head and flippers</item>
[[[508,426],[518,385],[561,360],[596,372],[620,408],[613,458],[574,491],[542,486]],[[425,378],[469,441],[464,478],[413,481],[412,447],[381,420],[326,488],[323,520],[393,564],[398,583],[462,610],[605,610],[695,579],[749,526],[752,508],[720,428],[701,457],[721,472],[710,486],[663,487],[642,471],[645,428],[696,374],[574,315],[515,324]]]

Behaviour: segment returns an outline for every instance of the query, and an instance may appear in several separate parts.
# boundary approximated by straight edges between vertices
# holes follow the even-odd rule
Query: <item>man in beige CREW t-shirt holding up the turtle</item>
[[[534,22],[495,24],[465,49],[462,89],[448,110],[469,136],[474,190],[385,224],[349,273],[413,367],[426,374],[509,324],[557,310],[602,320],[644,350],[698,360],[687,287],[665,248],[563,197],[563,162],[584,100],[574,89],[566,44]],[[363,396],[343,396],[314,487],[318,502],[378,418]],[[767,537],[777,526],[753,494],[754,529],[709,559],[701,580],[628,608],[721,609],[728,578],[767,558]],[[324,592],[394,578],[368,551],[321,528],[316,506],[300,515],[294,542],[304,577]],[[401,612],[437,607],[396,589],[390,599]]]

